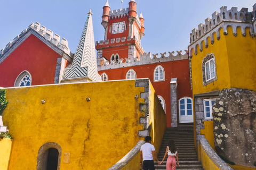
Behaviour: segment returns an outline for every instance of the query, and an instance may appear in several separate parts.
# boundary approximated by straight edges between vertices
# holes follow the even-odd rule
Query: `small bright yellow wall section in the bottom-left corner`
[[[0,139],[0,169],[7,170],[11,155],[12,139]]]

